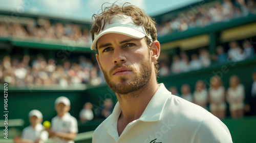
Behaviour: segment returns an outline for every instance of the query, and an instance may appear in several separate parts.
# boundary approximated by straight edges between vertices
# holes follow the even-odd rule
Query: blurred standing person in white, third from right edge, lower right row
[[[210,112],[219,118],[226,114],[225,88],[220,77],[214,76],[210,79],[209,89]]]

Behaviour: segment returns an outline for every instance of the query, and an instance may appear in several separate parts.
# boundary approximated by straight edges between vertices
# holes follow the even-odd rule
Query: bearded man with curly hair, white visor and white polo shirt
[[[129,3],[113,4],[93,18],[91,50],[118,99],[93,143],[232,142],[216,116],[157,82],[160,43],[153,18]]]

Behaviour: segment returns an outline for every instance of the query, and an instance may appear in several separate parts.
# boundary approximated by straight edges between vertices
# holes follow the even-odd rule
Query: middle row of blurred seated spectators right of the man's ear
[[[169,59],[164,59],[160,61],[159,76],[185,73],[191,70],[208,67],[209,65],[214,63],[242,61],[255,55],[255,47],[253,47],[253,45],[249,41],[243,41],[242,47],[237,41],[231,41],[229,42],[229,49],[227,53],[225,53],[222,45],[218,45],[216,47],[216,54],[212,55],[210,55],[206,49],[198,50],[199,55],[197,53],[193,53],[190,58],[188,57],[186,52],[180,52],[179,55],[173,56],[173,59],[171,60],[172,63],[169,67],[167,65],[167,61]]]

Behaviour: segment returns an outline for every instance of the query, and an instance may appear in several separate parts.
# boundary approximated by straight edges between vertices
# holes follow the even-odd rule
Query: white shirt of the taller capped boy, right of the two
[[[70,115],[69,112],[64,114],[61,118],[55,116],[52,118],[52,131],[53,132],[62,132],[62,133],[77,133],[77,120],[75,117]],[[65,140],[59,137],[54,136],[53,142],[56,143],[74,143],[74,140]]]

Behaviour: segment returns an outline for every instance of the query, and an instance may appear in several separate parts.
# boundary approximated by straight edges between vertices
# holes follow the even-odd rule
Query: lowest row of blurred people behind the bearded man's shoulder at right
[[[219,118],[226,117],[227,109],[232,118],[241,118],[245,114],[256,115],[256,69],[252,72],[252,79],[253,82],[247,95],[243,83],[236,75],[230,77],[227,89],[222,85],[222,79],[214,76],[209,82],[198,80],[193,93],[190,92],[188,84],[181,86],[181,94],[175,86],[171,86],[169,90],[172,94],[205,108]]]

